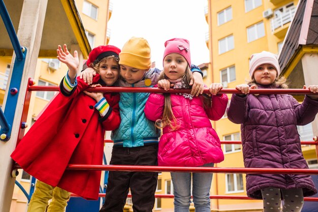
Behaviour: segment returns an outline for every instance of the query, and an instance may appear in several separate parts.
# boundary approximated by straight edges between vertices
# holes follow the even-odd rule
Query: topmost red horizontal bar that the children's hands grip
[[[28,86],[30,91],[58,91],[58,86]],[[170,89],[164,90],[156,87],[96,87],[88,88],[89,92],[126,92],[126,93],[190,93],[190,89]],[[204,94],[210,94],[209,89],[204,89]],[[250,94],[313,94],[309,89],[250,89]],[[241,94],[235,88],[222,88],[218,94]],[[316,93],[318,95],[318,93]]]

